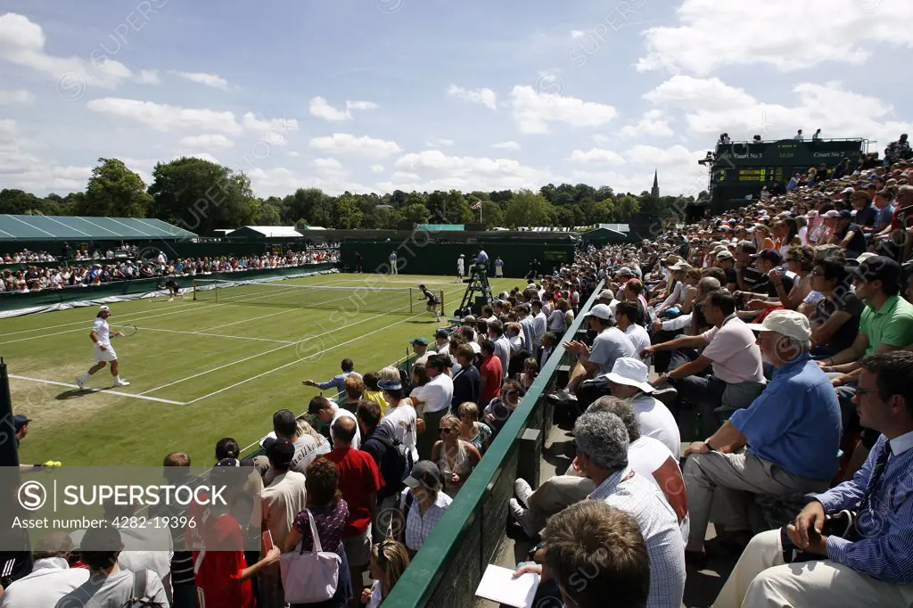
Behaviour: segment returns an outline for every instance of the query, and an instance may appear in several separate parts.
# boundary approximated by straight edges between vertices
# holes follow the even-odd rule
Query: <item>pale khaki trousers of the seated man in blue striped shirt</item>
[[[859,608],[913,605],[913,585],[900,585],[860,574],[822,559],[783,564],[780,530],[751,539],[729,574],[714,608]]]

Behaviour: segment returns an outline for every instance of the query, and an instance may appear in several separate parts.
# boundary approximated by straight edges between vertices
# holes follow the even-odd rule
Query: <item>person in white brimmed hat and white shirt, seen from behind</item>
[[[631,400],[641,435],[659,440],[678,456],[681,454],[681,436],[676,419],[666,405],[653,396],[656,388],[647,382],[648,373],[644,362],[634,357],[621,357],[615,360],[612,372],[605,377],[614,397]]]

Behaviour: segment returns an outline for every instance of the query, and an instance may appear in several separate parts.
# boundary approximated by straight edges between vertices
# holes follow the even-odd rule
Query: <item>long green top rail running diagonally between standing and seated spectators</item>
[[[581,328],[586,313],[593,307],[599,292],[603,290],[603,282],[600,281],[596,286],[593,295],[583,305],[577,319],[565,333],[566,336],[575,336]],[[443,572],[461,548],[460,540],[464,531],[478,517],[478,508],[488,498],[491,488],[507,466],[509,456],[516,448],[518,437],[529,427],[537,403],[546,392],[564,355],[564,345],[561,343],[556,346],[549,361],[520,401],[517,410],[510,414],[507,423],[467,478],[444,517],[432,530],[422,549],[415,555],[415,559],[396,583],[393,591],[384,600],[384,608],[419,608],[429,601],[441,582]],[[503,529],[492,531],[498,534],[504,532]],[[472,587],[475,588],[476,584],[477,582],[473,582]]]

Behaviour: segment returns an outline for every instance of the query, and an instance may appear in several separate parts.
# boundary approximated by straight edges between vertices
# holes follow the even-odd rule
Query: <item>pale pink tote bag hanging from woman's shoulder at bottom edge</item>
[[[282,589],[288,603],[325,602],[336,593],[339,583],[342,559],[336,553],[324,552],[317,534],[317,524],[310,508],[305,509],[310,521],[310,536],[314,540],[313,550],[283,553],[279,561],[282,573]]]

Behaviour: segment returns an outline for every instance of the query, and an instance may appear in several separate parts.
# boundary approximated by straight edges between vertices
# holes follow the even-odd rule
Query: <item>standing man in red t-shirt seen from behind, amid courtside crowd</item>
[[[371,562],[371,522],[377,514],[377,492],[383,487],[381,469],[373,456],[352,448],[356,423],[352,418],[340,417],[332,425],[333,450],[325,457],[339,469],[339,488],[342,498],[349,505],[349,520],[342,531],[352,584],[356,592],[353,605],[361,598],[362,571]]]

